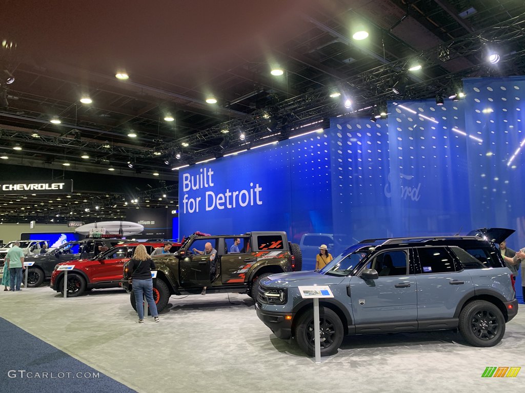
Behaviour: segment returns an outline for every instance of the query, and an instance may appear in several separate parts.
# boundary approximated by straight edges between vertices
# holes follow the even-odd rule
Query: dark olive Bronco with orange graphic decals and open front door
[[[217,251],[213,264],[210,255],[193,251],[203,252],[206,243]],[[249,232],[238,236],[196,232],[174,254],[159,254],[153,260],[158,269],[153,279],[153,297],[159,312],[172,294],[198,294],[203,287],[207,287],[207,293],[239,292],[253,297],[265,277],[301,270],[302,266],[301,250],[297,244],[288,242],[285,232]],[[132,291],[127,277],[124,266],[122,287]],[[130,302],[135,308],[132,292]]]

